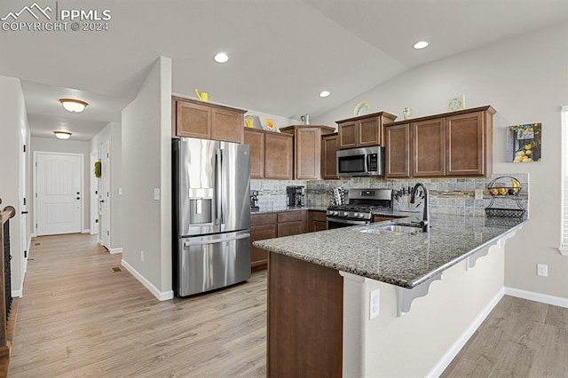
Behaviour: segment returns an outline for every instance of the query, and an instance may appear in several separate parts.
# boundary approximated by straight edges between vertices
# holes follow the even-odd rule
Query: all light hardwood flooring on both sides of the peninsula
[[[266,374],[266,272],[159,302],[90,235],[36,238],[29,257],[10,377]],[[568,309],[503,297],[442,376],[568,377]]]

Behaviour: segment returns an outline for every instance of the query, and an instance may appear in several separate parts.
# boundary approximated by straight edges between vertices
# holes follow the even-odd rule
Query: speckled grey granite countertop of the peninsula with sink
[[[411,221],[406,217],[398,221]],[[399,287],[413,288],[459,263],[478,249],[517,230],[524,219],[433,215],[430,232],[367,233],[394,221],[256,240],[258,248],[350,272]]]

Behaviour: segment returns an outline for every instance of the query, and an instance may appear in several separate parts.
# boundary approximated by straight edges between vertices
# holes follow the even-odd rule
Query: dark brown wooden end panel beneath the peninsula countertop
[[[341,377],[343,277],[271,252],[267,326],[267,376]]]

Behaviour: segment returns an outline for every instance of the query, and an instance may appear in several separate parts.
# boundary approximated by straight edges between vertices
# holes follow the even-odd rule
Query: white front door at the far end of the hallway
[[[83,156],[36,154],[37,235],[81,232]]]

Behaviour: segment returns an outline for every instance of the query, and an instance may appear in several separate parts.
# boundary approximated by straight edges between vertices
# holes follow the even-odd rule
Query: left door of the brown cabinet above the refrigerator
[[[211,137],[211,107],[177,101],[176,134],[178,137]]]

